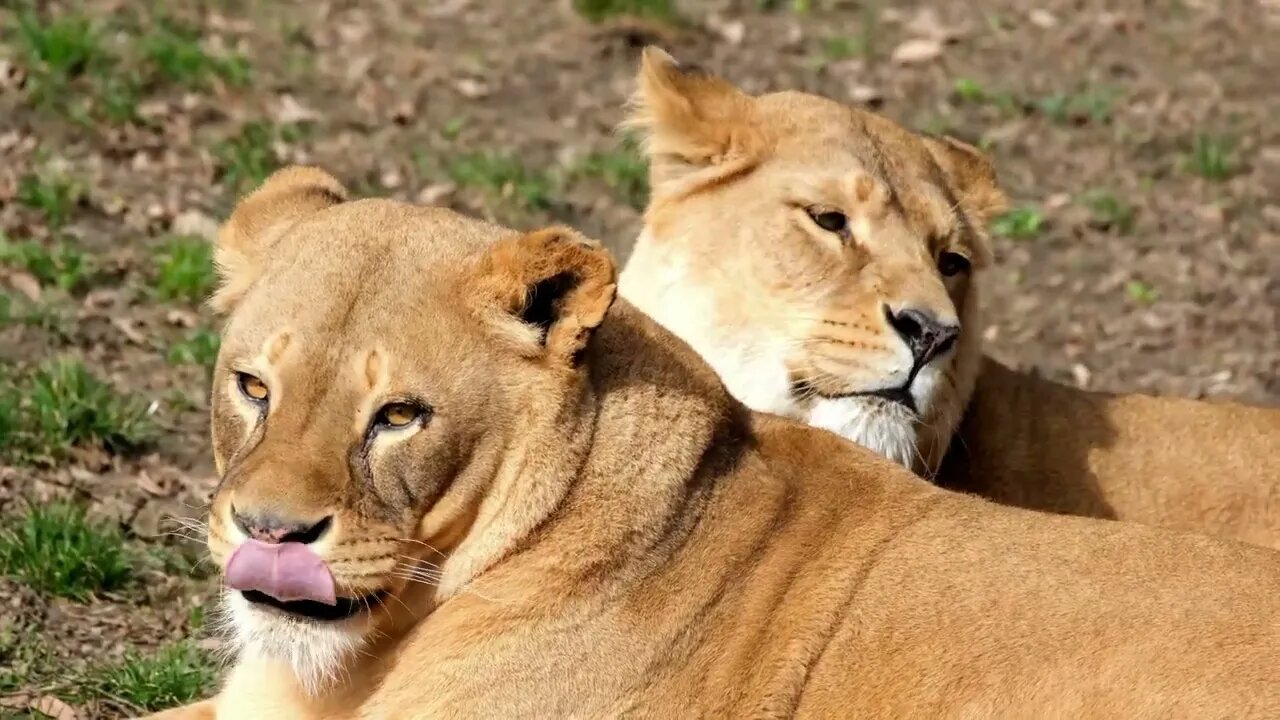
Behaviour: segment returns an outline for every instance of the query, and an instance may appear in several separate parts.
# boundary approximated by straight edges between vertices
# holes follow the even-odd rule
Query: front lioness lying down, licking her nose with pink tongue
[[[220,233],[241,648],[164,716],[1280,714],[1280,553],[938,489],[746,410],[572,231],[344,197]]]

